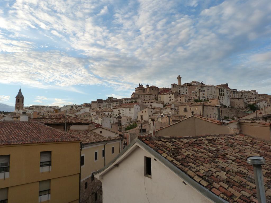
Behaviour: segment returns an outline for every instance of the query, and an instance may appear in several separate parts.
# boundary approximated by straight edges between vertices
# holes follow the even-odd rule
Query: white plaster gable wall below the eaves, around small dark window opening
[[[151,178],[144,176],[144,156],[151,157]],[[139,147],[105,173],[101,181],[104,203],[212,202]]]

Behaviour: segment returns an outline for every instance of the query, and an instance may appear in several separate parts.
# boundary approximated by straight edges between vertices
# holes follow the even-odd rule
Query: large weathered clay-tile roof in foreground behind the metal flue
[[[217,196],[228,202],[257,202],[253,166],[248,156],[263,156],[267,202],[271,202],[271,151],[269,142],[244,135],[140,138]]]

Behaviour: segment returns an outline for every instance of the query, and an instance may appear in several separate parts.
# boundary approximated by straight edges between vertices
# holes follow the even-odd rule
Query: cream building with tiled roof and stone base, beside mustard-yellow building
[[[122,138],[107,138],[92,130],[69,130],[67,133],[79,137],[82,142],[80,200],[82,203],[101,203],[102,183],[92,173],[120,153]]]

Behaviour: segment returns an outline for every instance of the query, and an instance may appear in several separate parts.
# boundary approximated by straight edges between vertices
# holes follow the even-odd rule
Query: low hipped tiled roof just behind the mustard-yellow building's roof
[[[38,119],[30,119],[33,121],[37,121],[39,123],[43,124],[60,124],[60,123],[65,123],[65,114],[64,113],[54,113],[49,116],[42,116]],[[80,124],[90,124],[89,121],[79,119],[73,116],[67,115],[67,123],[80,123]]]

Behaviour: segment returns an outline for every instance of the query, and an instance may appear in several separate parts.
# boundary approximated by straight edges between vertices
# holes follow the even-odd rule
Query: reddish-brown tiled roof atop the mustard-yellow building
[[[0,145],[77,140],[78,137],[34,121],[0,121]]]

